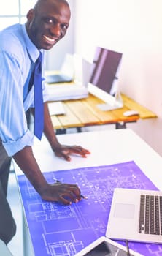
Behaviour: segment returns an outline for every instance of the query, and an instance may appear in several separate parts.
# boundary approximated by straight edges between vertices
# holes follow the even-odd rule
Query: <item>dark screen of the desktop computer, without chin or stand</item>
[[[93,59],[90,83],[109,94],[115,94],[112,86],[118,79],[122,53],[97,47]]]

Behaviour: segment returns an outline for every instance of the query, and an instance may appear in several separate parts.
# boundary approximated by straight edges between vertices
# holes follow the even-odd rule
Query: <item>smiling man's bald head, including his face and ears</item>
[[[26,29],[38,49],[50,50],[66,34],[70,10],[61,1],[48,0],[27,14]]]

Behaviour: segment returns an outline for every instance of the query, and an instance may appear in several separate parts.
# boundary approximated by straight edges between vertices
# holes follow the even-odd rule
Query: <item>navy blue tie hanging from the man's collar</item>
[[[34,67],[34,135],[42,138],[44,128],[44,107],[42,97],[42,53],[36,60]]]

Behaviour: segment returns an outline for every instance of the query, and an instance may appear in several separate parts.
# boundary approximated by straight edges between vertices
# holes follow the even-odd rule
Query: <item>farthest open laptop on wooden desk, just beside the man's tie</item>
[[[74,56],[66,53],[61,70],[58,74],[46,75],[46,83],[69,83],[74,80]]]

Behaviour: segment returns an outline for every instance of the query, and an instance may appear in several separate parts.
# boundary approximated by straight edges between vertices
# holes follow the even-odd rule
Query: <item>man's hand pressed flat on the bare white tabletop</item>
[[[82,148],[81,146],[66,146],[58,144],[53,148],[55,155],[57,157],[63,157],[66,161],[71,161],[70,154],[79,154],[81,157],[87,157],[87,154],[90,154],[88,149]]]

